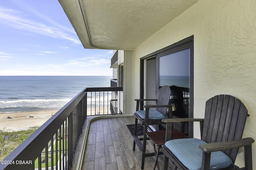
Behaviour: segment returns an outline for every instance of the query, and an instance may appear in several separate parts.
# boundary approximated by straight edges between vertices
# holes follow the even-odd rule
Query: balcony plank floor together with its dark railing
[[[132,151],[126,127],[134,124],[134,117],[110,111],[116,91],[122,87],[84,89],[10,153],[4,159],[9,164],[0,164],[0,169],[140,169],[141,151]],[[153,152],[152,143],[147,150]],[[151,170],[154,156],[145,161],[144,169]],[[163,167],[163,155],[159,166]]]

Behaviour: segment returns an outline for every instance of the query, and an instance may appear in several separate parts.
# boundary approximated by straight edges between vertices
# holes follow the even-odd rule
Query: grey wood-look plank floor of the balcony
[[[126,125],[134,124],[134,117],[112,117],[91,122],[83,170],[140,170],[141,151],[132,150],[133,139]],[[147,152],[154,152],[148,141]],[[163,169],[164,156],[158,162]],[[152,170],[155,157],[145,159],[144,170]],[[169,166],[172,166],[169,162]],[[171,167],[169,168],[172,169]]]

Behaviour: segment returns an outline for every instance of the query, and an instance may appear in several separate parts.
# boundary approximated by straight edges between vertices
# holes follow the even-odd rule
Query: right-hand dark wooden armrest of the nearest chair
[[[236,141],[229,141],[229,142],[216,142],[216,143],[207,143],[203,145],[199,145],[199,149],[203,152],[215,152],[220,150],[227,150],[227,149],[234,149],[245,147],[254,143],[254,139],[247,137],[243,139],[239,139]]]

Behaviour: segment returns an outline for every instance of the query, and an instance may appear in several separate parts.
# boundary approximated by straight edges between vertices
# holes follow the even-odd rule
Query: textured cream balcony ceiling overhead
[[[198,0],[59,0],[86,49],[133,50]]]

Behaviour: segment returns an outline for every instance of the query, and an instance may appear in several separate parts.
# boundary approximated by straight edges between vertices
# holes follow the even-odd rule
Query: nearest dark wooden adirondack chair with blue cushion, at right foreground
[[[237,98],[219,95],[206,102],[204,119],[163,119],[166,131],[172,129],[172,123],[181,121],[199,121],[201,139],[169,140],[162,147],[165,155],[164,169],[168,168],[168,159],[184,170],[238,169],[234,165],[238,148],[244,147],[245,169],[252,170],[252,138],[242,138],[246,122],[247,109]]]

